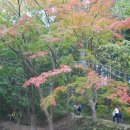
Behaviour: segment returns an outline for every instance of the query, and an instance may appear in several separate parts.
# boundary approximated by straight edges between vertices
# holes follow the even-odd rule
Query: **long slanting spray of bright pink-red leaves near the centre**
[[[23,87],[28,87],[33,84],[35,87],[40,87],[41,84],[45,83],[49,77],[71,72],[71,68],[67,65],[61,65],[60,69],[55,69],[53,71],[43,72],[38,77],[30,78],[27,82],[23,84]]]

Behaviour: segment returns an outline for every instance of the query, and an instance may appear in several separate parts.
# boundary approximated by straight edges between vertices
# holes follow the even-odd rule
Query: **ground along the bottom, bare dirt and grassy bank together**
[[[11,121],[0,121],[0,130],[30,130],[30,126],[18,126]],[[55,130],[130,130],[130,125],[117,124],[110,120],[98,119],[96,123],[91,117],[76,116],[70,114],[63,117],[59,121],[54,121]],[[48,126],[38,127],[37,130],[49,130]]]

